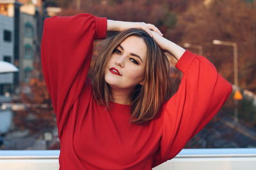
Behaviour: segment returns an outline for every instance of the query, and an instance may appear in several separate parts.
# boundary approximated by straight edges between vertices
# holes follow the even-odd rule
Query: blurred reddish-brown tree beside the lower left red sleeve
[[[56,118],[40,64],[34,67],[33,78],[22,83],[20,99],[13,101],[26,106],[25,110],[15,111],[13,122],[17,129],[28,129],[31,133],[40,134],[56,127]]]

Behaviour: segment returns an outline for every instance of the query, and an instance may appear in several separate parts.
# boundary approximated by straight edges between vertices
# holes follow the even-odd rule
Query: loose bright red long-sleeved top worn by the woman
[[[97,104],[86,75],[93,39],[105,38],[106,18],[89,14],[44,22],[42,69],[61,142],[60,169],[152,169],[172,159],[220,110],[232,86],[205,57],[186,52],[184,76],[161,116],[129,124],[130,106]]]

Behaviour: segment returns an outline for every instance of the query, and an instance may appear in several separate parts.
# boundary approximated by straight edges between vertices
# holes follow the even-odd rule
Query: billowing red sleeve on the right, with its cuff
[[[177,155],[218,113],[232,86],[205,57],[186,50],[176,66],[184,76],[178,91],[164,105],[163,134],[154,166]]]

